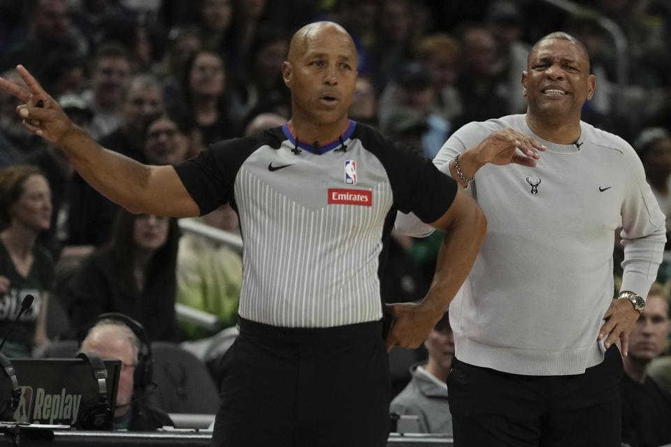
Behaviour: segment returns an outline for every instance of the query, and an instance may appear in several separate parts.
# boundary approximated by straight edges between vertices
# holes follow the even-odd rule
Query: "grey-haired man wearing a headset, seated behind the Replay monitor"
[[[137,328],[142,329],[139,325]],[[113,429],[129,432],[151,432],[165,425],[175,424],[168,413],[147,404],[146,396],[152,391],[147,374],[145,340],[141,340],[124,320],[101,318],[87,333],[81,351],[93,352],[101,358],[121,360],[119,386],[114,409]]]

